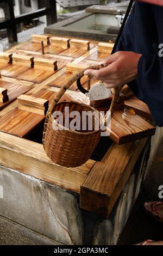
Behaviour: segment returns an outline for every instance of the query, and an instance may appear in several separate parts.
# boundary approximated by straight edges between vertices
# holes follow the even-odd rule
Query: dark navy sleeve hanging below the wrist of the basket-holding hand
[[[163,126],[163,58],[158,53],[142,55],[137,80],[156,124]]]

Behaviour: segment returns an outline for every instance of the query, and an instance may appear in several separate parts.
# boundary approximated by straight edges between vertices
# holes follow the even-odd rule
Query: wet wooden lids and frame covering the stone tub
[[[55,51],[58,51],[57,47],[60,48],[60,46],[45,44],[44,55],[41,54],[40,41],[30,41],[14,46],[8,51],[9,53],[57,60],[58,70],[52,72],[8,64],[5,61],[0,64],[3,80],[1,83],[0,79],[0,87],[8,89],[9,99],[14,95],[12,100],[24,94],[45,99],[51,103],[60,87],[76,74],[74,70],[66,71],[68,63],[73,63],[74,66],[81,63],[87,66],[99,64],[110,54],[110,50],[105,52],[108,45],[100,45],[100,48],[97,46],[98,42],[90,42],[90,50],[86,50],[86,44],[83,47],[71,47],[70,44],[70,48],[66,49],[61,46],[62,49],[58,53]],[[9,80],[14,82],[15,87],[10,87],[11,81]],[[85,88],[87,88],[86,80],[87,77],[81,80]],[[92,80],[91,84],[95,82],[96,80]],[[20,86],[28,88],[21,87],[20,90]],[[78,90],[76,83],[67,90],[66,94],[71,95],[73,90]],[[0,132],[1,164],[80,193],[80,206],[83,209],[108,217],[146,143],[146,139],[136,142],[135,139],[148,137],[154,133],[154,127],[138,115],[142,114],[142,117],[147,117],[146,114],[149,114],[147,106],[135,101],[134,98],[128,98],[127,93],[126,107],[133,107],[135,111],[138,110],[141,113],[137,112],[136,115],[130,117],[124,116],[123,110],[115,111],[111,120],[110,133],[110,137],[116,143],[125,144],[117,145],[113,142],[100,162],[89,160],[84,166],[78,168],[64,168],[52,163],[41,144],[24,139],[38,124],[43,123],[45,115],[42,115],[42,107],[41,114],[32,113],[29,108],[20,109],[18,107],[20,104],[15,100],[0,111],[0,130],[3,131]]]

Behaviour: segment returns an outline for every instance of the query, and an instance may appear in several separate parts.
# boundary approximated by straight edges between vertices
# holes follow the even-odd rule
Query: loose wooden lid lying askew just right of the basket
[[[110,131],[109,137],[117,144],[150,137],[155,133],[155,127],[139,115],[131,115],[121,110],[113,113],[108,130]]]

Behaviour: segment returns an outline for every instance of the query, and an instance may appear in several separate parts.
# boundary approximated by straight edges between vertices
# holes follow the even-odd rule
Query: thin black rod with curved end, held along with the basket
[[[120,41],[120,38],[121,38],[121,35],[122,35],[122,32],[123,32],[123,29],[124,29],[124,26],[126,24],[126,21],[127,21],[127,18],[129,16],[129,13],[130,13],[130,10],[131,10],[131,7],[133,5],[133,2],[134,0],[130,0],[129,2],[129,5],[128,5],[128,8],[127,8],[127,11],[126,11],[126,14],[124,16],[124,19],[123,19],[123,22],[122,22],[122,25],[121,25],[121,28],[120,28],[120,31],[117,35],[117,38],[116,38],[116,41],[115,41],[115,44],[114,44],[114,47],[112,48],[112,51],[111,51],[111,54],[115,53],[116,52],[116,48],[117,48],[117,45],[118,45],[118,42]],[[80,82],[80,78],[77,80],[77,87],[78,89],[80,90],[80,92],[82,93],[89,93],[88,90],[84,89],[81,82]]]

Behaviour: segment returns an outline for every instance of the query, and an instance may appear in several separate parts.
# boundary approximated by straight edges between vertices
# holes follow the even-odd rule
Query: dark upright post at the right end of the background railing
[[[55,0],[47,0],[47,7],[49,11],[47,13],[47,26],[57,22],[57,8]]]

